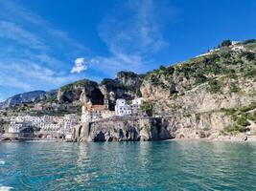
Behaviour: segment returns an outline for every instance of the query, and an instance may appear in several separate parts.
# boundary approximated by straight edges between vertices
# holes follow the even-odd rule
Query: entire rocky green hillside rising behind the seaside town
[[[142,109],[163,117],[174,138],[256,132],[256,40],[230,43],[147,74],[120,72],[99,84],[82,79],[60,87],[57,94],[10,105],[2,116],[79,114],[81,103],[103,103],[105,93],[113,92],[113,100],[146,98]],[[36,111],[38,103],[46,109]]]

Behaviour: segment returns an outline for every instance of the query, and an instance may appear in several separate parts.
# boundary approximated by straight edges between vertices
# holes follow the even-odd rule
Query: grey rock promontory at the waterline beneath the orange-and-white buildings
[[[78,141],[145,141],[172,138],[168,124],[156,117],[126,117],[83,123],[77,126]]]

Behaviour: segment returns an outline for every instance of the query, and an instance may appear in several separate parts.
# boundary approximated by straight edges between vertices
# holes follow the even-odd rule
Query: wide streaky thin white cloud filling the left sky
[[[69,62],[87,49],[17,1],[0,0],[1,96],[49,90],[78,80]]]

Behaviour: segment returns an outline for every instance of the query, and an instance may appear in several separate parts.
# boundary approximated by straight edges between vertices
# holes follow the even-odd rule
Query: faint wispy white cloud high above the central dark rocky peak
[[[108,11],[99,26],[110,55],[91,58],[98,60],[91,67],[110,76],[120,70],[148,71],[153,65],[152,55],[168,46],[161,23],[165,9],[153,0],[127,1],[119,6],[119,11]]]

